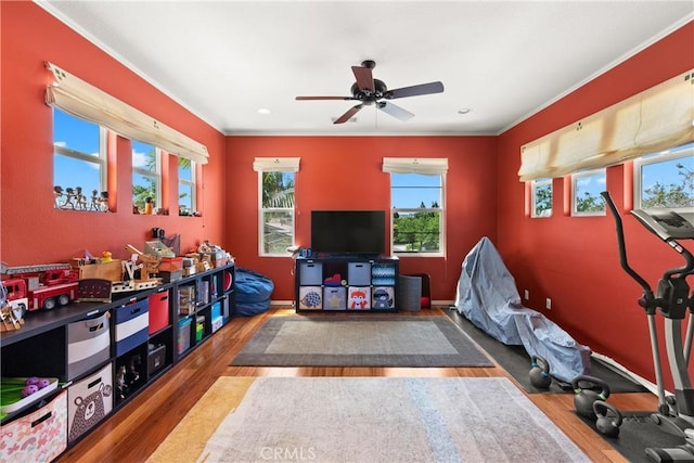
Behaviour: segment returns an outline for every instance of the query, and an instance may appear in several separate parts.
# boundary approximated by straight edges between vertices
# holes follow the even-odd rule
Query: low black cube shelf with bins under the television
[[[297,257],[296,311],[397,311],[398,262],[397,257]]]

